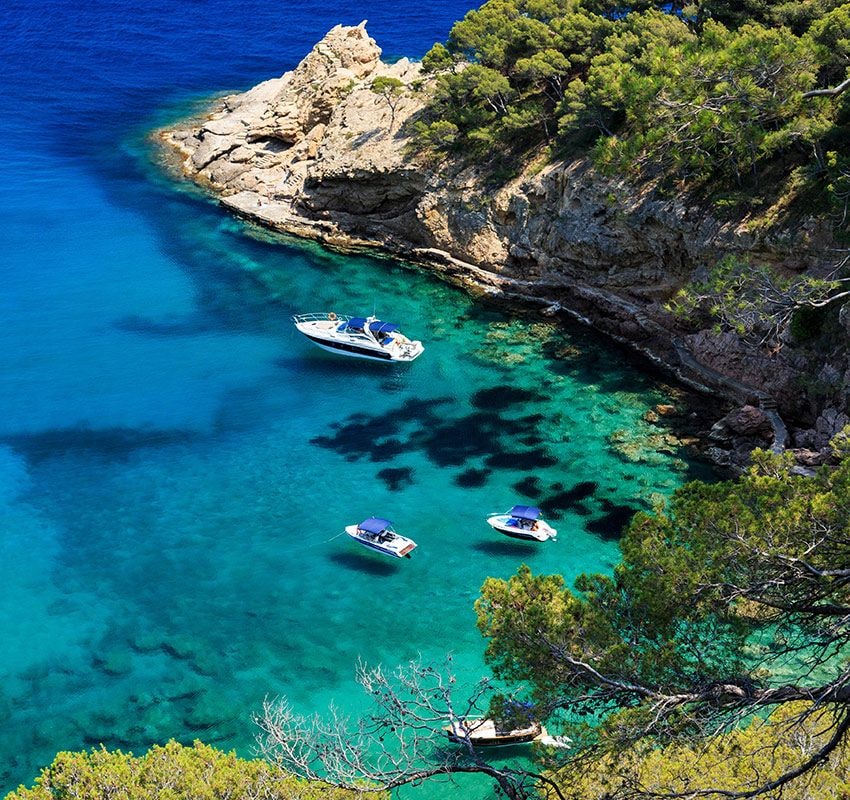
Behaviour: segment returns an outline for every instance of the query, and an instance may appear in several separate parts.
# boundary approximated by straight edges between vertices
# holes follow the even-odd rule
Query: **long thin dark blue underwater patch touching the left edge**
[[[70,454],[119,461],[148,447],[189,444],[203,434],[185,429],[158,428],[54,428],[37,433],[0,437],[31,465]]]

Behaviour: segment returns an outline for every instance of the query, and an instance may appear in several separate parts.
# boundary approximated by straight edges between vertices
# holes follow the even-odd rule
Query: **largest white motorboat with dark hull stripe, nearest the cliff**
[[[322,350],[373,361],[413,361],[425,349],[422,342],[408,339],[393,322],[377,317],[349,317],[333,311],[326,314],[296,314],[295,327]]]

